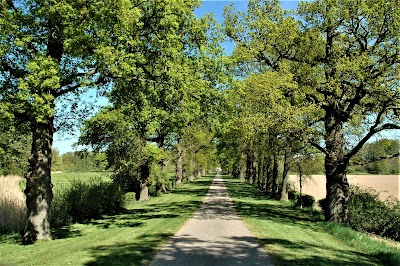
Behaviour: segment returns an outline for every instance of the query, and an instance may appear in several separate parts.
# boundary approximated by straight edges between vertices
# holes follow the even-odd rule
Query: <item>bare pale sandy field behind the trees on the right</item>
[[[290,181],[296,191],[299,191],[299,176],[290,175]],[[380,198],[385,200],[389,196],[400,199],[400,176],[398,175],[347,175],[350,184],[373,188],[380,192]],[[304,177],[303,194],[312,195],[316,200],[326,197],[325,175]]]

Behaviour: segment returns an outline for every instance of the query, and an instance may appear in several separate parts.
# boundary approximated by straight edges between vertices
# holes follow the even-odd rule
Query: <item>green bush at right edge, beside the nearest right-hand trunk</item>
[[[379,199],[371,188],[351,186],[349,224],[354,229],[400,240],[400,201]]]

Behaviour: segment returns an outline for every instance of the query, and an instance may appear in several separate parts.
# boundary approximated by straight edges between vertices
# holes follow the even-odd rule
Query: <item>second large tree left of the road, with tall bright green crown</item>
[[[199,121],[199,117],[205,113],[206,99],[212,95],[212,85],[218,77],[215,75],[219,73],[216,71],[219,68],[217,55],[221,50],[207,35],[213,25],[212,18],[195,17],[193,9],[198,4],[197,1],[165,1],[149,7],[148,13],[140,21],[151,27],[140,36],[141,42],[136,44],[134,50],[126,48],[126,54],[140,56],[141,76],[138,78],[136,75],[136,66],[125,63],[123,67],[126,73],[121,72],[121,78],[115,80],[115,86],[108,94],[113,106],[104,108],[98,116],[98,122],[101,123],[100,116],[107,112],[122,115],[123,121],[129,126],[121,133],[130,136],[134,132],[147,151],[154,151],[149,148],[157,146],[162,153],[162,150],[179,143],[183,128]],[[113,139],[116,136],[113,134],[114,128],[106,130],[111,130],[111,138],[107,138],[107,141],[109,147],[113,147],[112,144],[118,142],[117,138]],[[107,135],[102,131],[98,133]],[[96,137],[86,139],[86,144],[90,144],[91,140],[96,144]],[[129,153],[120,155],[124,154]],[[145,191],[148,191],[151,183],[152,163],[145,159],[150,154],[142,155],[140,158],[127,156],[124,159],[127,163],[136,160],[132,164],[140,162],[140,178],[128,172],[123,176],[139,180],[136,195],[143,195],[144,199],[147,198]],[[158,157],[153,155],[150,157]],[[163,164],[163,160],[159,163]]]

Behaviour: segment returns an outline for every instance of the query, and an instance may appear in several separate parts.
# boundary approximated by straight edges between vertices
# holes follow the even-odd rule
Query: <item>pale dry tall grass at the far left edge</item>
[[[21,231],[25,225],[26,205],[19,176],[0,176],[0,232]]]

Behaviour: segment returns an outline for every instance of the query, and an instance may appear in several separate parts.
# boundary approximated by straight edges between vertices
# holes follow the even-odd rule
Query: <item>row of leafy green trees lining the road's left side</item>
[[[104,151],[115,179],[133,180],[138,198],[159,181],[156,170],[172,147],[179,154],[177,183],[184,169],[204,171],[213,152],[208,107],[221,83],[222,49],[212,17],[194,15],[199,5],[0,1],[2,126],[31,134],[25,244],[50,238],[53,134],[87,118],[89,108],[78,102],[88,89],[107,95],[111,105],[85,123],[80,141]]]

